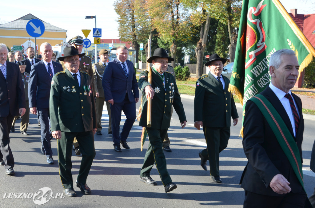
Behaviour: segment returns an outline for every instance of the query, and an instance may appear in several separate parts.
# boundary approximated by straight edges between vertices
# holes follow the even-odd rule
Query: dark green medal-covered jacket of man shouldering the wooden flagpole
[[[139,89],[142,91],[142,113],[139,126],[146,127],[147,120],[147,99],[145,87],[150,85],[148,82],[148,71],[140,73],[138,81]],[[155,70],[152,70],[152,88],[155,90],[152,99],[152,126],[150,129],[168,129],[171,122],[171,108],[172,105],[178,114],[180,122],[186,121],[183,104],[180,100],[177,85],[173,74],[164,72],[165,89],[163,87],[162,79]]]

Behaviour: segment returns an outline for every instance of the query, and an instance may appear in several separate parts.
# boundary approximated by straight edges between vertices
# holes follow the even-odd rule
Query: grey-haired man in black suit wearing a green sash
[[[244,207],[309,207],[303,188],[302,103],[290,90],[299,75],[295,52],[273,53],[269,72],[269,86],[245,106],[243,148],[248,163],[240,181]]]

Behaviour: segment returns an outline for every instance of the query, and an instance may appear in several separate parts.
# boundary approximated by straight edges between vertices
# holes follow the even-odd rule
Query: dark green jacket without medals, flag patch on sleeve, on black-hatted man
[[[238,118],[233,95],[228,91],[230,80],[221,76],[225,81],[224,90],[210,72],[197,80],[194,121],[202,121],[203,126],[230,127],[231,116]]]

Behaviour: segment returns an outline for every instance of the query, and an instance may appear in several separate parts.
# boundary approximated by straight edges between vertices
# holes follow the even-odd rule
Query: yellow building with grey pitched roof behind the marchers
[[[26,32],[26,24],[31,19],[39,19],[32,14],[27,14],[19,19],[5,24],[0,24],[0,43],[6,44],[10,49],[13,46],[23,46],[23,52],[26,54],[27,47],[35,48],[35,38],[28,35]],[[41,19],[39,19],[41,20]],[[45,26],[45,32],[42,36],[36,38],[37,50],[44,43],[49,42],[54,46],[61,42],[66,42],[67,30],[61,29],[54,25],[41,20]]]

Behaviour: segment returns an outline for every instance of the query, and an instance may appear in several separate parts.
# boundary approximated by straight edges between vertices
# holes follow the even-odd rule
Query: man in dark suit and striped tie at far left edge
[[[19,66],[7,61],[8,48],[0,43],[0,165],[14,174],[9,132],[13,118],[25,113],[25,94]]]

